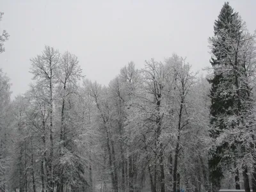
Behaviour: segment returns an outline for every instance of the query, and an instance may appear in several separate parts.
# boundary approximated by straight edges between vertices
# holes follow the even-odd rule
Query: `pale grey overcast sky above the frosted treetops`
[[[6,29],[10,39],[0,68],[11,79],[13,95],[28,90],[29,59],[45,45],[76,54],[83,74],[106,85],[129,61],[141,68],[145,60],[163,61],[173,52],[201,70],[209,66],[208,38],[224,2],[1,0],[0,31]],[[254,31],[256,1],[230,5]]]

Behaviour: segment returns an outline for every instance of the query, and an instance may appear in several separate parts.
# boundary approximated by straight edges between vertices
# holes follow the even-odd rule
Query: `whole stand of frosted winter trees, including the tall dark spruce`
[[[0,191],[256,192],[256,33],[237,11],[216,13],[205,77],[173,54],[102,86],[45,46],[11,100],[1,69]]]

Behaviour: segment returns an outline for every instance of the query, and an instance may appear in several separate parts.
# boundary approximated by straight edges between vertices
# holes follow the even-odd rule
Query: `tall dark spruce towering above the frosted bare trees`
[[[209,80],[212,84],[210,134],[216,142],[210,152],[209,170],[214,191],[220,189],[223,170],[231,169],[235,175],[236,189],[240,189],[237,152],[244,148],[239,135],[233,133],[243,129],[243,119],[250,103],[250,88],[246,83],[248,79],[244,67],[246,61],[241,59],[246,42],[244,30],[244,23],[238,13],[225,3],[214,23],[214,36],[210,38],[211,65],[214,70],[214,77]],[[244,164],[244,188],[250,191],[247,172]]]

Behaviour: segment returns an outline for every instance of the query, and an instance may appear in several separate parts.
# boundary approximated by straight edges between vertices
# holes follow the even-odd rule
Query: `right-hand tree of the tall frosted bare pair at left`
[[[77,93],[77,81],[82,77],[82,70],[78,64],[77,56],[71,54],[70,52],[65,52],[61,55],[60,63],[57,67],[58,71],[58,81],[59,81],[59,92],[60,92],[60,103],[61,103],[61,117],[60,117],[60,162],[58,164],[56,174],[58,175],[58,186],[57,191],[63,192],[64,184],[67,182],[68,177],[64,179],[64,175],[67,175],[67,172],[70,172],[69,163],[79,163],[79,159],[76,158],[74,152],[70,150],[70,144],[74,139],[74,132],[72,132],[72,126],[70,125],[71,113],[67,107],[70,100],[75,99],[72,97],[72,94]],[[69,124],[69,126],[68,126]],[[73,130],[74,131],[74,130]],[[70,134],[70,132],[72,132]],[[70,138],[71,137],[71,138]],[[83,164],[83,163],[82,163]],[[74,165],[73,165],[74,166]],[[76,167],[76,166],[74,166]],[[73,167],[73,168],[74,168]]]

